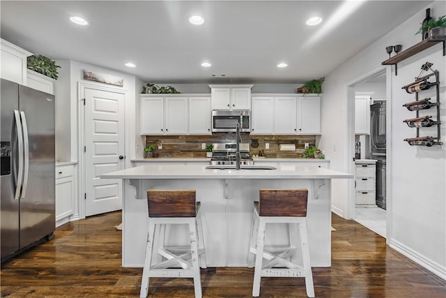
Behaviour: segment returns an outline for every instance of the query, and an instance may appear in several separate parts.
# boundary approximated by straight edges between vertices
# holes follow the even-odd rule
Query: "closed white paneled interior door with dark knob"
[[[121,179],[101,174],[124,169],[124,99],[122,93],[87,87],[85,96],[85,215],[122,209]]]

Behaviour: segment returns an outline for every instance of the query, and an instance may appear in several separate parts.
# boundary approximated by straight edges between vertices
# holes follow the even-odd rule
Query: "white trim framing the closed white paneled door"
[[[78,81],[77,82],[77,160],[79,161],[79,171],[77,172],[79,181],[79,219],[85,218],[85,110],[84,110],[84,98],[85,89],[95,89],[100,91],[115,92],[118,94],[123,94],[124,100],[127,99],[128,90],[122,88],[105,87],[102,84],[95,84],[91,82]],[[125,124],[125,114],[124,114],[124,124]],[[124,130],[125,134],[125,130]],[[125,140],[126,135],[124,135]],[[126,150],[126,149],[125,149]]]

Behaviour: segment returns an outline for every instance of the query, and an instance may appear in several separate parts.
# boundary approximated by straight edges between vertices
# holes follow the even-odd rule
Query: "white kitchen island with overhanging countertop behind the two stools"
[[[201,202],[208,267],[246,267],[254,200],[260,188],[307,188],[307,229],[313,267],[331,265],[331,179],[352,174],[309,165],[276,170],[209,170],[206,165],[144,165],[102,174],[123,179],[123,267],[142,267],[148,230],[146,191],[194,189]],[[183,230],[184,228],[184,230]],[[168,245],[188,243],[185,227],[167,230]],[[286,245],[284,225],[267,227],[266,245]]]

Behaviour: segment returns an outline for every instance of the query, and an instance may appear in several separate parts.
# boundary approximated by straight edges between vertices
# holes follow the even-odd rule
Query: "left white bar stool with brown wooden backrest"
[[[194,278],[195,297],[201,298],[200,265],[206,268],[204,254],[203,229],[199,216],[200,202],[195,200],[195,191],[159,191],[148,190],[148,235],[146,258],[142,271],[141,292],[139,297],[147,297],[148,284],[151,277]],[[164,246],[161,241],[159,248],[154,248],[155,229],[164,239],[164,225],[186,224],[189,226],[190,246]],[[198,231],[198,232],[197,232]],[[198,238],[198,245],[197,245]],[[165,260],[155,262],[154,249]],[[201,260],[199,260],[201,258]],[[153,264],[155,262],[155,264]]]

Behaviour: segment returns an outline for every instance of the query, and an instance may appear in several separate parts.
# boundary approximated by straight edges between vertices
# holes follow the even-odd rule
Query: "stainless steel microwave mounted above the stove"
[[[240,123],[240,132],[249,133],[251,111],[212,111],[213,133],[233,133]]]

